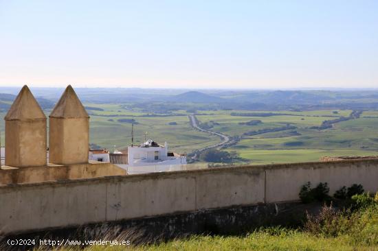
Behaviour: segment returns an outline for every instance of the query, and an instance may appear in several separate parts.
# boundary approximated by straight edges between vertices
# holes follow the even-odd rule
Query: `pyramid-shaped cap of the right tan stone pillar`
[[[51,118],[75,119],[75,118],[89,118],[87,111],[82,106],[74,88],[71,85],[67,86],[62,97],[50,113]]]

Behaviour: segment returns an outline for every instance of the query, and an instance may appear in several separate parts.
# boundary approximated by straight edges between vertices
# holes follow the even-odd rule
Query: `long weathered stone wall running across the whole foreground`
[[[0,186],[0,230],[16,232],[298,200],[300,186],[378,191],[378,160],[225,167]]]

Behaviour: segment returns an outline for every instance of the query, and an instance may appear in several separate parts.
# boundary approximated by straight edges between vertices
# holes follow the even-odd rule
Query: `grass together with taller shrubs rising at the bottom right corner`
[[[135,237],[137,232],[124,230],[113,236],[108,230],[95,239],[129,240],[131,245],[87,246],[84,250],[378,250],[378,195],[375,199],[370,197],[370,202],[366,202],[368,195],[359,195],[359,198],[365,198],[365,202],[352,199],[353,211],[323,206],[320,213],[307,216],[303,226],[293,228],[271,226],[241,235],[192,235],[163,242],[155,242],[150,237],[142,243]],[[79,248],[71,246],[56,250]]]

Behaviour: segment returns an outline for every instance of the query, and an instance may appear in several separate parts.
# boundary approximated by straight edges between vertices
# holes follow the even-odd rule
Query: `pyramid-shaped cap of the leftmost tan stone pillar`
[[[25,121],[30,119],[46,119],[46,116],[30,89],[25,85],[16,99],[14,99],[4,119]]]

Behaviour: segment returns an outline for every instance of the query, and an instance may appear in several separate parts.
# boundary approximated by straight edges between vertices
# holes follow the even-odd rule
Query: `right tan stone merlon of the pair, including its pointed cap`
[[[49,162],[88,163],[89,116],[72,86],[67,86],[49,115]]]

